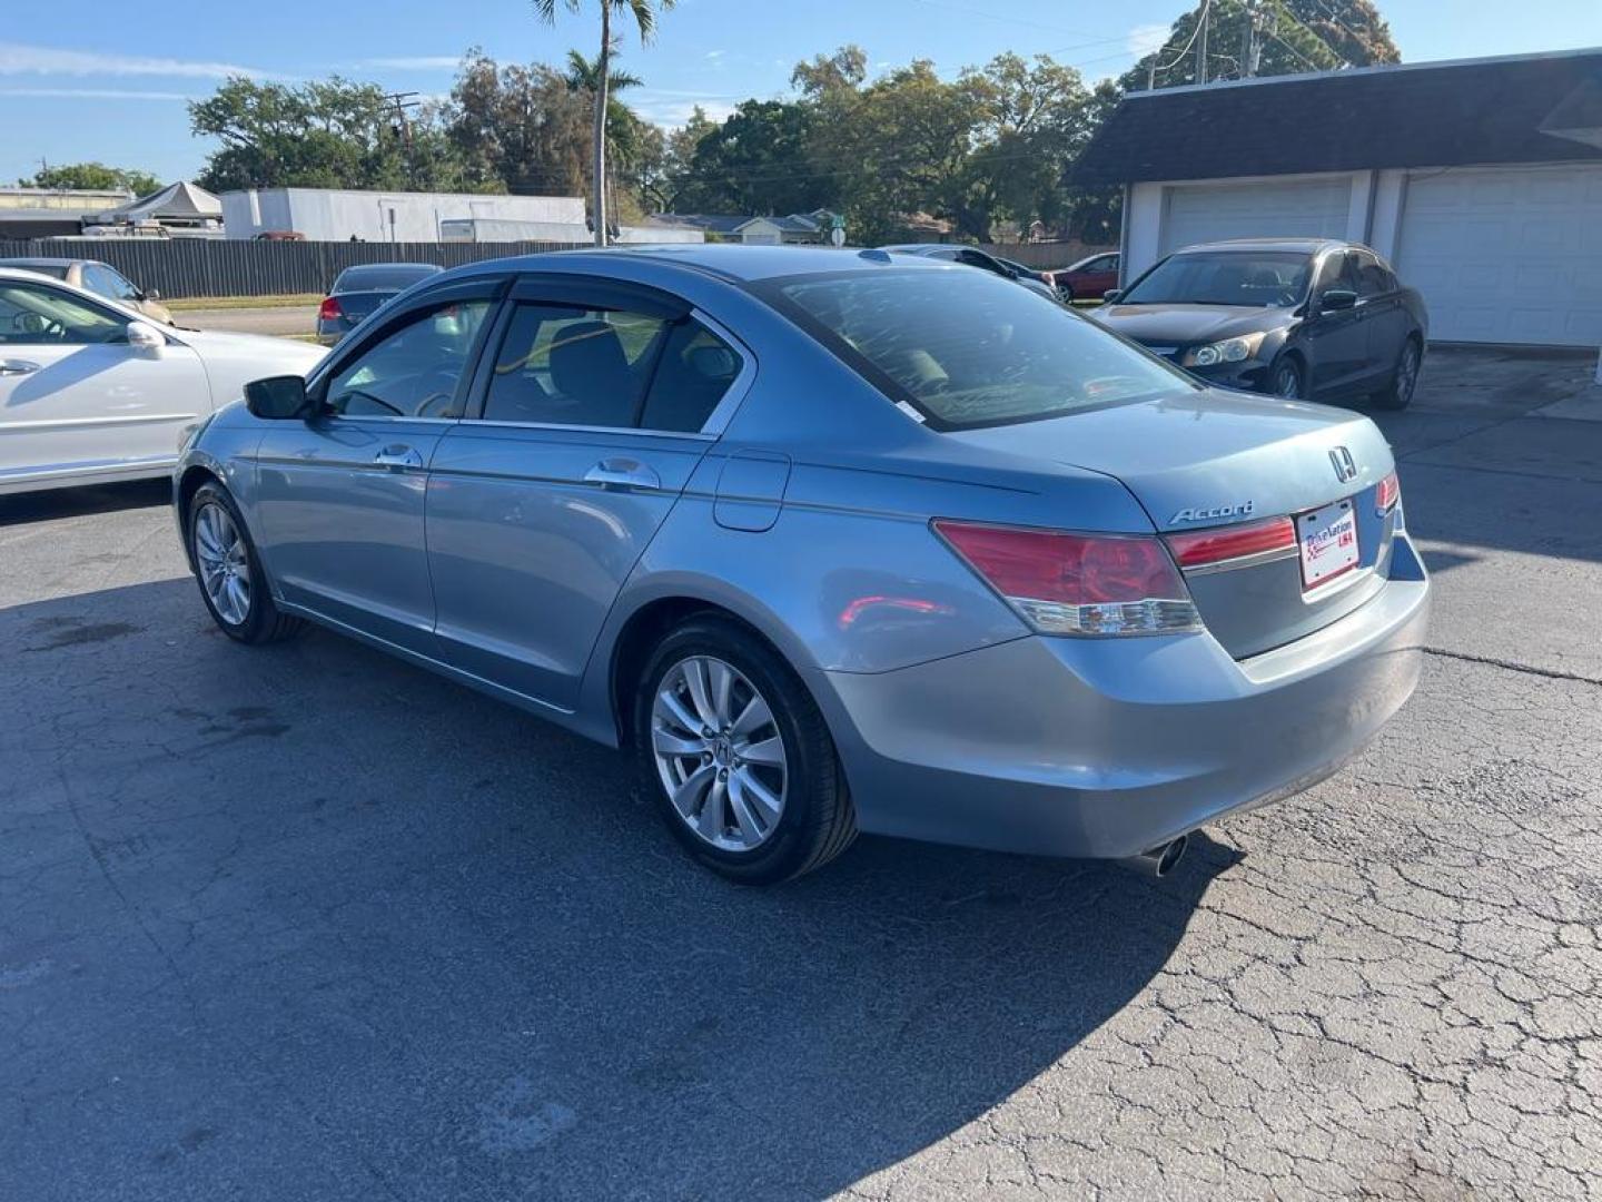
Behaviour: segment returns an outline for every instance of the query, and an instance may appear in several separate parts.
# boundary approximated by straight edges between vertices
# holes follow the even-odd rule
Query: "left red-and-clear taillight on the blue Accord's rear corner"
[[[1041,635],[1200,630],[1185,582],[1145,535],[936,521],[936,532]]]

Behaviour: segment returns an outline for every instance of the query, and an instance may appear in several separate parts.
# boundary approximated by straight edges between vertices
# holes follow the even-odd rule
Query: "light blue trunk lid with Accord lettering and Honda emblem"
[[[1395,514],[1381,514],[1375,498],[1394,460],[1360,413],[1208,391],[948,438],[1115,476],[1165,534],[1301,518],[1349,502],[1355,571],[1306,588],[1291,551],[1185,572],[1202,620],[1237,659],[1310,635],[1384,587]],[[1073,518],[1041,524],[1073,529]]]

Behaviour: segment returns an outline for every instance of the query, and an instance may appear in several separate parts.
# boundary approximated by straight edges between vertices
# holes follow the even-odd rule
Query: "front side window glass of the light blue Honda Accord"
[[[344,417],[460,417],[458,386],[489,311],[489,300],[465,300],[409,314],[328,380],[327,407]]]

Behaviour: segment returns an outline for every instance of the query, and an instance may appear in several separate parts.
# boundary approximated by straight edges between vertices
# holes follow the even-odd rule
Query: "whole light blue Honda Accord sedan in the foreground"
[[[309,619],[631,748],[748,883],[859,830],[1166,870],[1375,736],[1429,591],[1367,418],[876,250],[433,276],[175,498],[227,635]]]

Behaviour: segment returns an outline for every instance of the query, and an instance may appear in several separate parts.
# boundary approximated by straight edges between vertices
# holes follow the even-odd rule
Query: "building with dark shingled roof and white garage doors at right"
[[[1432,338],[1602,345],[1602,50],[1136,91],[1069,179],[1123,186],[1126,284],[1193,242],[1344,237]]]

